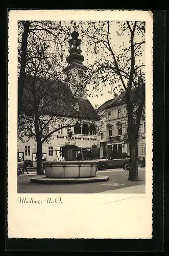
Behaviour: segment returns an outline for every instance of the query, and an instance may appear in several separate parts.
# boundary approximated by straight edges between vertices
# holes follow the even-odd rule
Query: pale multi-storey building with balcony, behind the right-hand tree
[[[107,152],[121,151],[129,153],[129,140],[127,135],[127,110],[125,93],[106,101],[99,108],[100,120],[100,145]],[[138,157],[146,155],[146,122],[141,120],[138,136]]]

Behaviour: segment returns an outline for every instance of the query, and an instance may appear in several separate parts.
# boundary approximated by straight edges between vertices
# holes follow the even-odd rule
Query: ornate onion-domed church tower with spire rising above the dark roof
[[[85,73],[87,68],[83,65],[84,57],[81,55],[82,40],[78,38],[79,33],[76,31],[76,23],[74,23],[74,26],[75,29],[71,33],[71,39],[68,41],[69,55],[66,57],[68,66],[64,70],[65,81],[77,98],[86,99]]]

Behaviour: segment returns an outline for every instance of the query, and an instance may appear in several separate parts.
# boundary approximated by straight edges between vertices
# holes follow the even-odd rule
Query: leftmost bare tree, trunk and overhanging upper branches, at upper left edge
[[[21,108],[21,99],[23,94],[23,84],[28,73],[28,55],[36,58],[31,44],[44,44],[50,47],[51,43],[55,45],[55,49],[60,53],[59,60],[63,60],[64,46],[69,35],[69,27],[61,22],[53,21],[36,21],[21,20],[18,22],[18,117]],[[45,46],[47,45],[47,46]],[[42,49],[42,50],[43,50]]]

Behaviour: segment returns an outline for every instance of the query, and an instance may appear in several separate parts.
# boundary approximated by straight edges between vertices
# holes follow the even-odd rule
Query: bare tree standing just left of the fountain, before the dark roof
[[[79,104],[78,104],[79,102]],[[93,111],[75,99],[69,87],[55,80],[27,77],[23,87],[21,113],[18,120],[18,139],[33,138],[37,144],[37,174],[42,173],[42,145],[64,128],[77,123],[93,125]],[[61,125],[59,125],[61,124]]]

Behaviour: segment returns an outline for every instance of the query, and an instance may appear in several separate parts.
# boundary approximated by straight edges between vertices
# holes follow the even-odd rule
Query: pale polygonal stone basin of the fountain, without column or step
[[[95,177],[97,161],[47,161],[43,162],[46,178]]]

